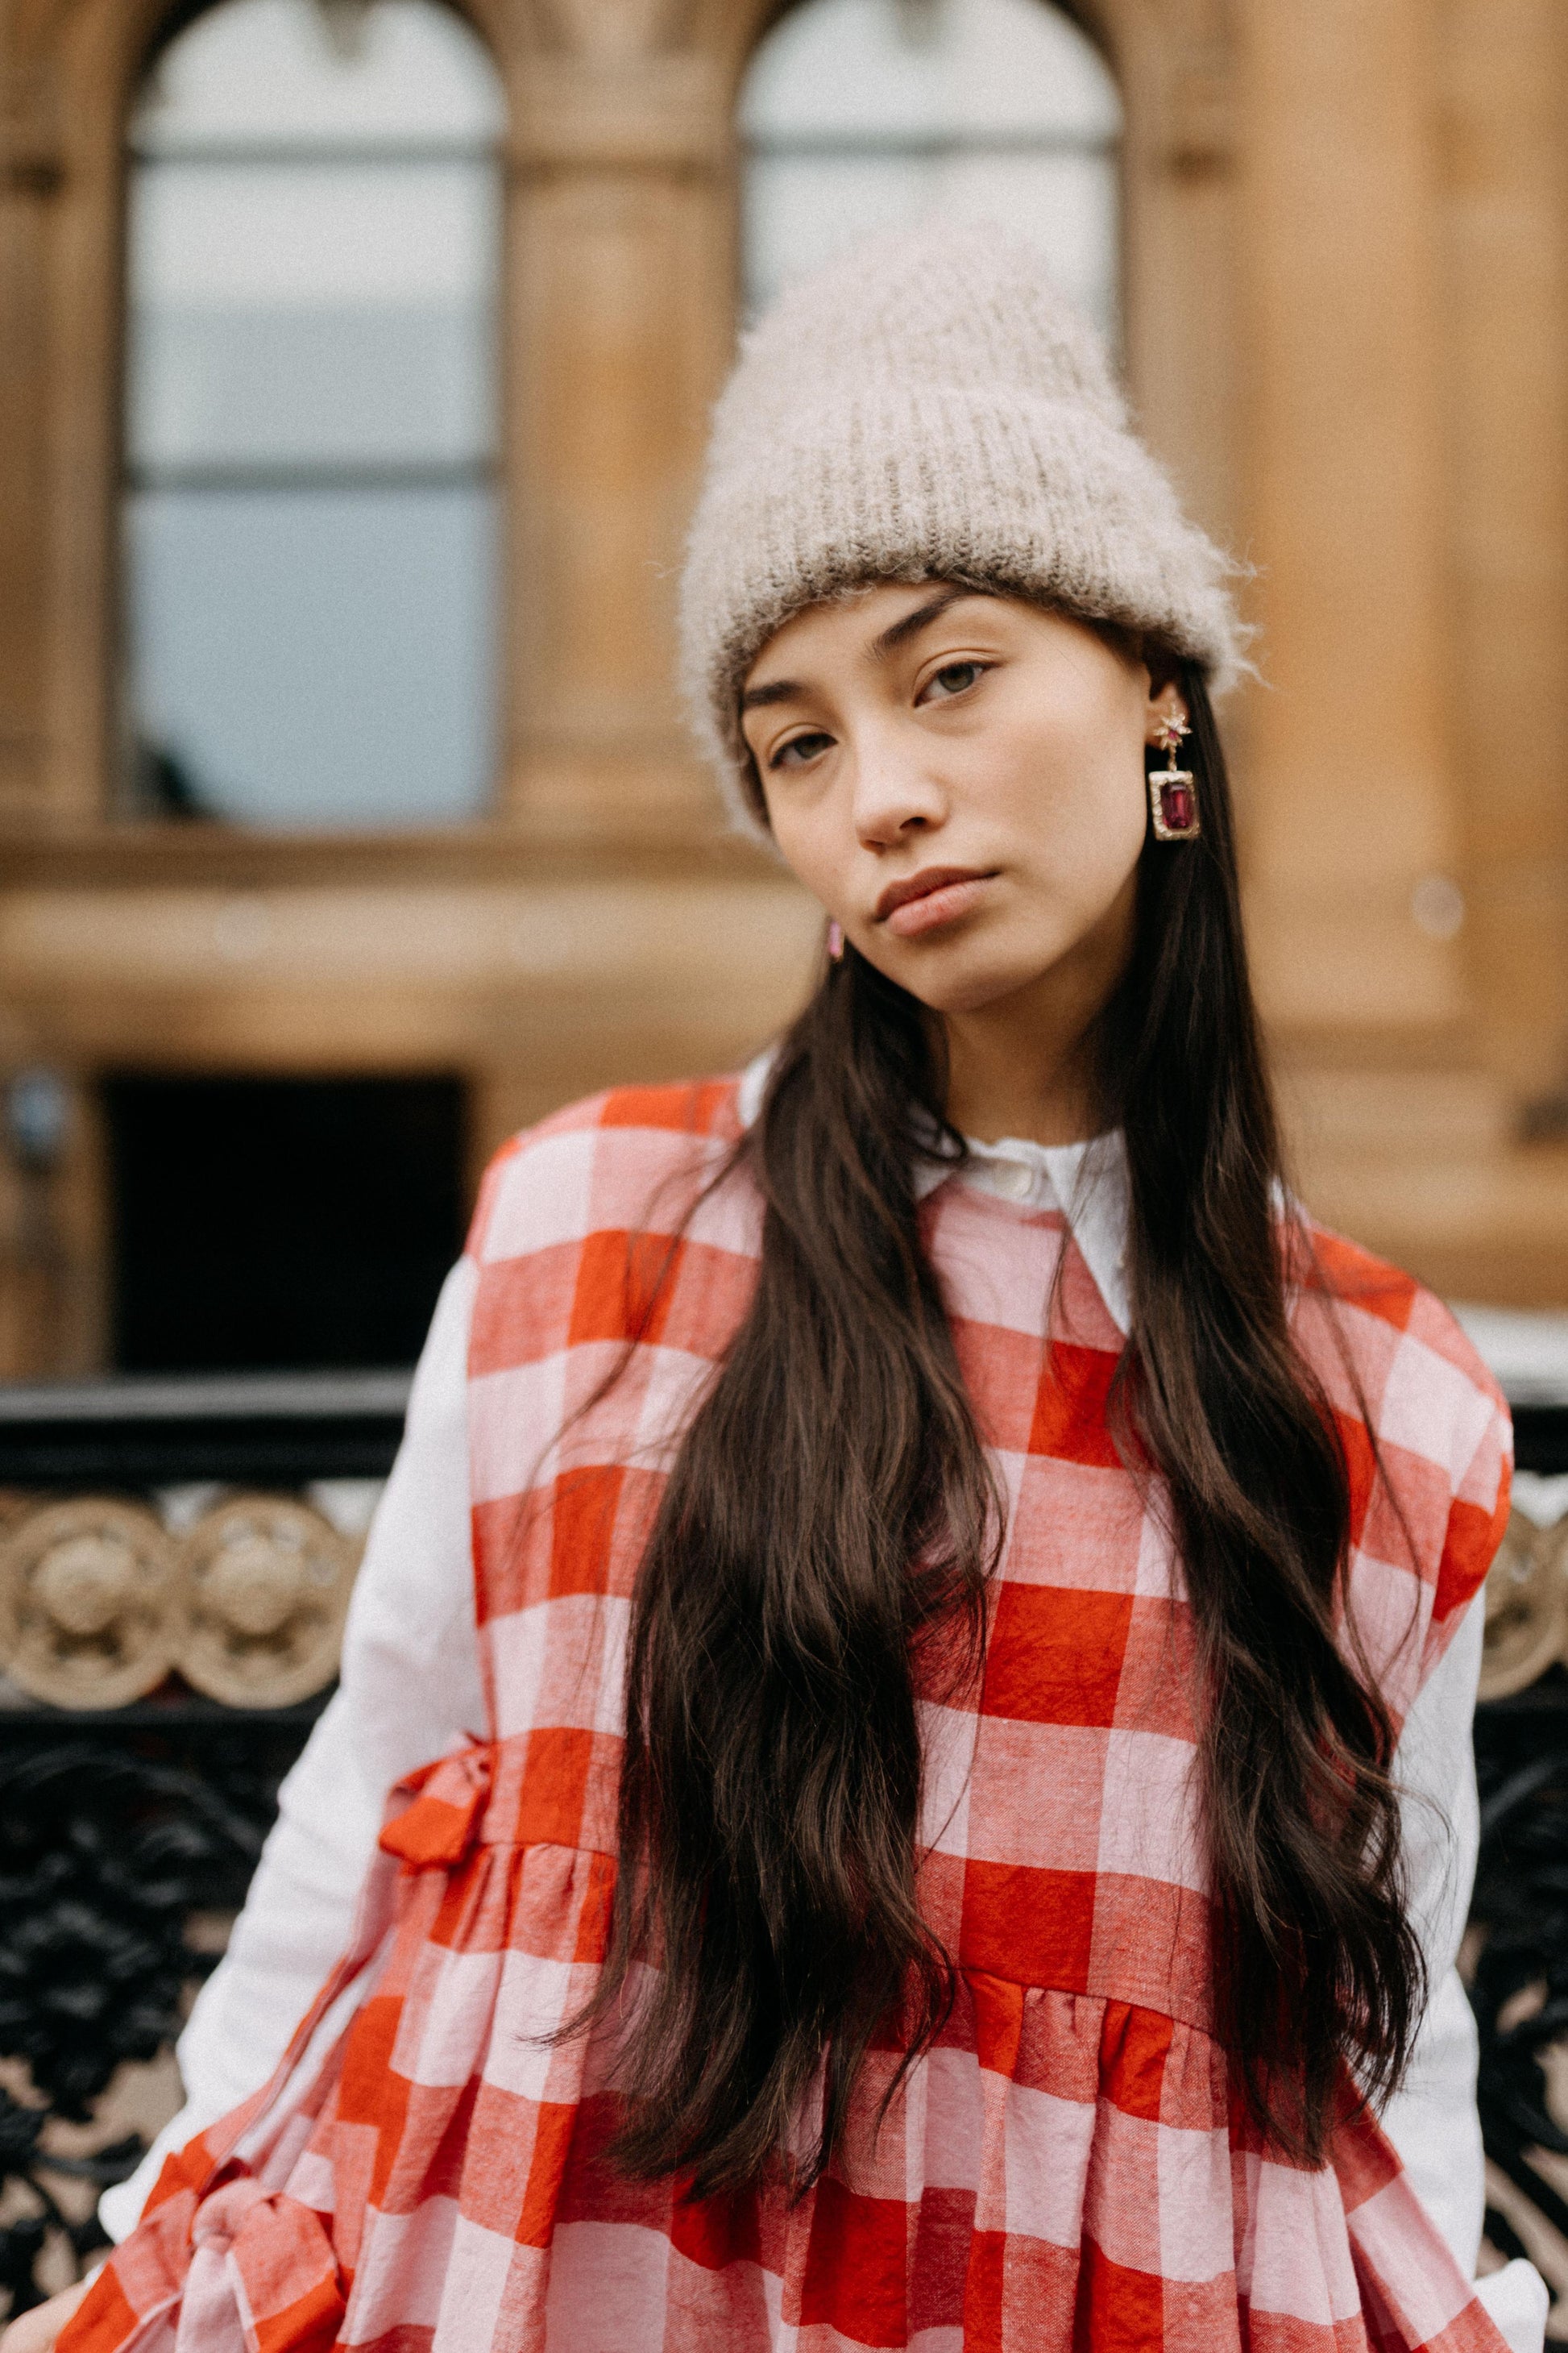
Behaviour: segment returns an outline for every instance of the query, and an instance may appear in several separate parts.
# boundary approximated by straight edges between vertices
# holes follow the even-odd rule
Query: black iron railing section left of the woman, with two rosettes
[[[12,2311],[103,2245],[99,2193],[146,2151],[115,2092],[179,2033],[327,1704],[407,1391],[407,1372],[0,1388]]]

